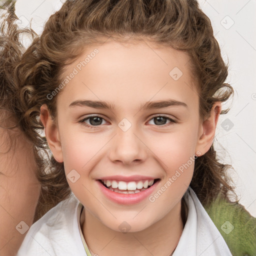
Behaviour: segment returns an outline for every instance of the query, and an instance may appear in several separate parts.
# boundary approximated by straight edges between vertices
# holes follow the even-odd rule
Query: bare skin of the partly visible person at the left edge
[[[39,198],[40,185],[35,177],[32,143],[19,128],[9,130],[1,110],[0,127],[0,255],[14,256],[25,237],[26,225],[31,226]],[[17,229],[16,229],[17,226]],[[18,228],[19,227],[19,228]],[[20,233],[24,232],[23,234]]]

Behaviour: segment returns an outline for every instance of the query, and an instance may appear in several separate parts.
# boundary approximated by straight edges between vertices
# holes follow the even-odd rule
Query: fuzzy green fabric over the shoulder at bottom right
[[[232,255],[256,254],[256,218],[251,216],[243,205],[218,196],[205,210]]]

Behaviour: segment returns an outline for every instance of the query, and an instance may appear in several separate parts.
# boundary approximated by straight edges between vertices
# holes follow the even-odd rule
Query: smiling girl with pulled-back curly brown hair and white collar
[[[253,255],[212,145],[232,87],[196,1],[67,0],[13,75],[54,206],[18,255]]]

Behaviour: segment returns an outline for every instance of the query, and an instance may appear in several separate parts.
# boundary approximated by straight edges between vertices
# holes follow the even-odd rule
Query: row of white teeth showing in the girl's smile
[[[118,188],[119,190],[129,190],[129,191],[135,191],[135,193],[139,192],[140,190],[138,189],[144,189],[148,188],[148,186],[151,186],[154,182],[153,179],[147,179],[147,180],[139,180],[139,181],[130,181],[130,182],[125,182],[125,181],[117,181],[117,180],[103,180],[101,181],[110,188]],[[112,190],[112,189],[110,189]],[[128,192],[129,192],[128,191]],[[137,192],[136,192],[137,191]]]

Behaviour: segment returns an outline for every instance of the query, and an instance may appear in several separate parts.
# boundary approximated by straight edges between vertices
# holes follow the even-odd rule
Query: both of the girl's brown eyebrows
[[[73,106],[88,106],[92,108],[115,110],[115,105],[108,103],[106,101],[75,100],[69,105],[69,107],[73,107]],[[140,105],[139,111],[147,110],[147,109],[163,108],[168,106],[188,107],[185,102],[174,100],[174,99],[167,99],[167,100],[159,100],[159,101],[147,101],[144,104]]]

